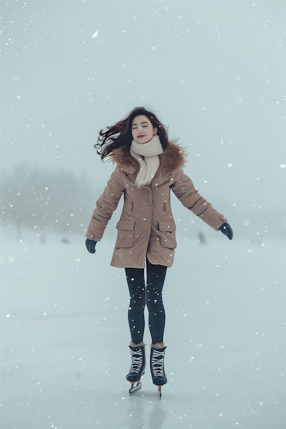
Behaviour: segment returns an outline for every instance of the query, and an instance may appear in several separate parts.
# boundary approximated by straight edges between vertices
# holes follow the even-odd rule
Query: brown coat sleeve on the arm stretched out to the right
[[[174,173],[174,183],[171,190],[176,197],[180,199],[182,205],[191,210],[196,216],[213,229],[219,230],[219,227],[227,221],[226,217],[221,215],[213,206],[198,193],[197,188],[193,185],[191,179],[184,174],[182,169]]]

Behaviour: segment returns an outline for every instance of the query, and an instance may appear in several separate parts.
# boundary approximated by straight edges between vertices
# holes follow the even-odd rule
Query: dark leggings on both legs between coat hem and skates
[[[143,268],[126,268],[125,271],[130,293],[128,321],[133,343],[139,344],[143,341],[145,305],[147,305],[149,311],[149,329],[152,343],[163,343],[165,309],[162,290],[167,267],[164,265],[152,265],[147,260],[146,286]]]

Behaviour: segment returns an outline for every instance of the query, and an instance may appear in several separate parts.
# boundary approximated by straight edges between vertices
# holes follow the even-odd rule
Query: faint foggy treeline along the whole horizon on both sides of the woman
[[[63,237],[70,233],[84,234],[104,185],[105,181],[96,174],[92,183],[86,173],[19,165],[9,173],[1,173],[0,221],[12,228],[19,238],[25,229],[35,230],[43,240],[48,232],[59,232]],[[173,199],[178,236],[198,239],[205,244],[213,234],[209,227],[182,208],[175,197]],[[115,238],[120,212],[119,205],[105,236],[110,234]],[[247,238],[252,243],[261,243],[270,237],[285,240],[284,212],[248,210],[245,214],[228,208],[227,216],[235,230],[235,238]]]

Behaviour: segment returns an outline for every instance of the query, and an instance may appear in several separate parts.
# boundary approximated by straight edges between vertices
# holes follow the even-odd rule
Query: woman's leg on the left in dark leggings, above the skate
[[[126,268],[126,279],[130,293],[128,322],[133,345],[143,343],[145,328],[145,278],[143,268]]]

